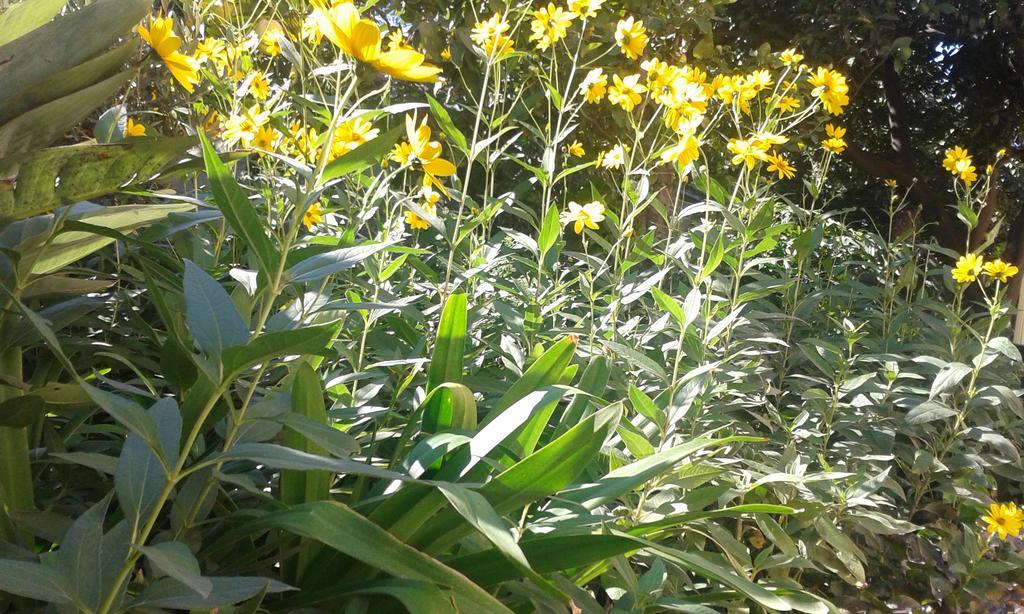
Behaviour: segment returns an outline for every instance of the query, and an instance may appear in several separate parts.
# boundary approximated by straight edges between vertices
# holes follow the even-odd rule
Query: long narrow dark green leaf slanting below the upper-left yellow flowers
[[[199,139],[203,145],[203,162],[206,165],[210,189],[213,191],[217,208],[224,214],[231,228],[253,251],[260,271],[267,279],[272,279],[278,272],[281,255],[267,237],[259,214],[202,130],[199,131]]]

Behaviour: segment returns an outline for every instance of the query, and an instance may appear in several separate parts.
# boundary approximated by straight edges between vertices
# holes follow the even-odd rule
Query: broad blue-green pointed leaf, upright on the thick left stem
[[[249,343],[249,326],[231,298],[190,260],[185,260],[184,294],[185,322],[204,352],[219,356],[225,348]]]

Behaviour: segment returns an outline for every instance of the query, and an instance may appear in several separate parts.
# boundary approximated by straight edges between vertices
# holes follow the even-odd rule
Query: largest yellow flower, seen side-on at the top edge
[[[321,30],[345,54],[402,81],[433,83],[441,72],[424,61],[425,56],[413,49],[381,50],[380,28],[370,19],[359,17],[351,2],[336,4],[330,9],[317,9]]]

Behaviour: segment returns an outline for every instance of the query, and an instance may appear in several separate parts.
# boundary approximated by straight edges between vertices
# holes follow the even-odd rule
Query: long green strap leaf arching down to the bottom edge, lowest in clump
[[[452,590],[465,612],[511,612],[465,576],[406,545],[338,501],[313,501],[268,514],[259,526],[285,529],[315,539],[397,578],[429,581]]]

